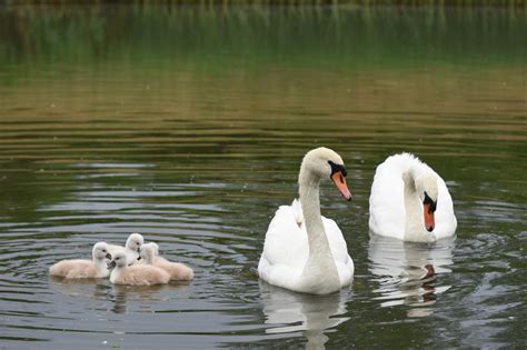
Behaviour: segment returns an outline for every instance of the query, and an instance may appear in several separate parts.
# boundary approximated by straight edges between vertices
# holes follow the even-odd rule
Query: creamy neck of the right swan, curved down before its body
[[[428,238],[429,233],[425,230],[422,218],[422,204],[416,190],[417,170],[408,169],[402,173],[405,182],[405,240],[424,241],[424,237]]]

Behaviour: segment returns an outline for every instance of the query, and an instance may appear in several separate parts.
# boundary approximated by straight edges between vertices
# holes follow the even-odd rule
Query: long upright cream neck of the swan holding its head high
[[[309,257],[302,277],[309,280],[307,283],[324,284],[320,288],[327,288],[331,283],[339,283],[339,277],[320,214],[320,178],[308,171],[300,171],[299,186],[309,243]]]

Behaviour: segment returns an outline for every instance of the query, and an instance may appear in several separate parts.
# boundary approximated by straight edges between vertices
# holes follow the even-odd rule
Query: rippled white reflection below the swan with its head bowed
[[[449,273],[455,238],[434,243],[405,242],[370,233],[369,271],[379,288],[381,307],[410,306],[409,317],[425,317],[437,296],[451,286],[439,286],[438,274]]]

